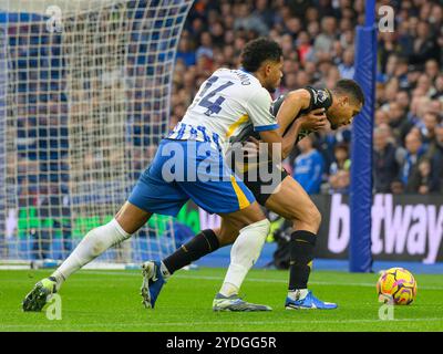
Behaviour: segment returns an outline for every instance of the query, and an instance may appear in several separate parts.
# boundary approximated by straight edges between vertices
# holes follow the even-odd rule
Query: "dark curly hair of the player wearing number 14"
[[[279,62],[282,55],[281,46],[265,37],[248,42],[241,52],[241,66],[254,73],[267,61]]]

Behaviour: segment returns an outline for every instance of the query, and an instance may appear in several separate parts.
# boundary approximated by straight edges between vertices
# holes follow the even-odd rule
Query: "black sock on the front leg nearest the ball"
[[[289,291],[308,288],[316,239],[317,236],[309,231],[292,232],[289,246]]]

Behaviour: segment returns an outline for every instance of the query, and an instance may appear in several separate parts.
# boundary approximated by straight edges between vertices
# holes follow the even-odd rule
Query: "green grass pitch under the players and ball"
[[[313,271],[310,288],[333,311],[284,309],[288,272],[253,270],[244,284],[246,300],[274,308],[265,313],[214,313],[212,301],[225,269],[177,272],[155,310],[141,304],[138,271],[81,271],[62,288],[62,320],[45,312],[24,313],[23,296],[48,270],[0,271],[0,331],[443,331],[443,277],[418,274],[418,299],[395,306],[394,320],[379,319],[378,274]]]

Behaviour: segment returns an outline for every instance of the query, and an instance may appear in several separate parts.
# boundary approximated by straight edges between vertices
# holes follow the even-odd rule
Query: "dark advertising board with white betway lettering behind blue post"
[[[317,257],[348,258],[351,236],[348,196],[313,196],[312,199],[322,215]],[[442,196],[374,196],[371,235],[374,259],[443,261],[442,239]]]

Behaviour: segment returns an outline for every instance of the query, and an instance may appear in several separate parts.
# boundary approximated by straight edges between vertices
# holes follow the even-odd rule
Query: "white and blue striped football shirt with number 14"
[[[206,80],[169,139],[209,142],[226,152],[227,143],[247,126],[278,128],[272,98],[258,79],[243,70],[219,69]]]

